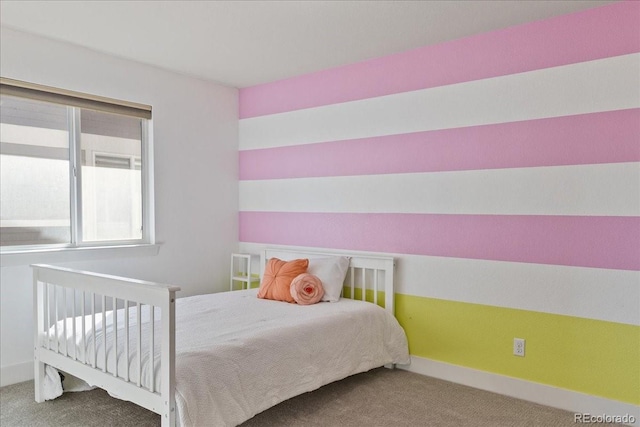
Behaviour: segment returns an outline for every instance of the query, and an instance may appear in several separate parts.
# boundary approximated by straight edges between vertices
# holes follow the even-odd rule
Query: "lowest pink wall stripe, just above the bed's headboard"
[[[640,270],[640,218],[240,212],[240,241]]]

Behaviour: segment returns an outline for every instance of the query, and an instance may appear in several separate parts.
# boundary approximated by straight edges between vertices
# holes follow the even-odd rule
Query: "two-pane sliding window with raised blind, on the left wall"
[[[2,252],[153,243],[151,107],[0,83]]]

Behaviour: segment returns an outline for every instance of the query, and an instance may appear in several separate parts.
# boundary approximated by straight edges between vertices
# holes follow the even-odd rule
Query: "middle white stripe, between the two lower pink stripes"
[[[640,163],[240,181],[241,211],[640,215]]]

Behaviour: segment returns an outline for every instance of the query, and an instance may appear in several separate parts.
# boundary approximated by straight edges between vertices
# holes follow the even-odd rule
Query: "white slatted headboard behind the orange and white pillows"
[[[265,265],[270,258],[289,261],[297,258],[311,259],[327,256],[346,256],[350,258],[349,270],[342,288],[342,298],[372,302],[394,314],[393,276],[395,260],[393,257],[267,248],[261,254],[260,278],[262,279]]]

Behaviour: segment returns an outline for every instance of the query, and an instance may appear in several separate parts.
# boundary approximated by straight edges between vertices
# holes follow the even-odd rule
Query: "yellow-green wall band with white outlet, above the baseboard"
[[[640,404],[639,326],[401,294],[396,317],[412,355]]]

